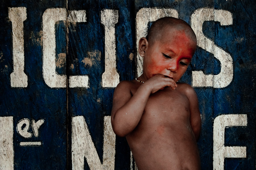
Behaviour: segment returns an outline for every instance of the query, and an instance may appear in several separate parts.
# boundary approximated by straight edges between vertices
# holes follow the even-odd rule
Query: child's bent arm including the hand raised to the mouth
[[[134,84],[122,81],[117,85],[113,95],[111,124],[115,134],[121,137],[128,135],[136,128],[151,93],[165,86],[175,88],[177,85],[171,78],[155,75],[141,84],[133,95],[131,86]]]

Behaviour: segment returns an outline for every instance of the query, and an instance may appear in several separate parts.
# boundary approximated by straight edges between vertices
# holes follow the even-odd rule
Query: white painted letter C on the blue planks
[[[50,8],[43,14],[43,77],[51,88],[65,88],[66,75],[56,73],[55,23],[66,20],[66,9]],[[69,22],[86,22],[85,10],[70,11]],[[69,76],[69,87],[89,87],[87,75]]]

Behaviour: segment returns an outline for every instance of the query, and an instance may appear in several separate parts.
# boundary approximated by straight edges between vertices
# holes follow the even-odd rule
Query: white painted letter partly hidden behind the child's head
[[[137,48],[137,77],[143,72],[143,58],[139,55],[138,45],[142,37],[146,37],[148,23],[166,16],[178,18],[179,14],[175,9],[166,8],[141,8],[136,15],[136,48]]]

